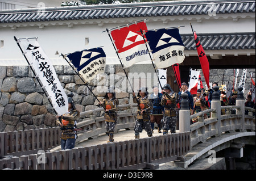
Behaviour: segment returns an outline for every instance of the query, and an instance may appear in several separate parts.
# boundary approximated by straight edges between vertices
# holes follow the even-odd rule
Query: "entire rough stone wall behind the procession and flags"
[[[102,100],[108,87],[113,85],[116,88],[116,97],[120,105],[133,103],[130,94],[131,87],[121,65],[106,65],[105,74],[97,75],[88,83],[92,92],[84,85],[71,66],[57,65],[54,68],[66,94],[68,92],[75,94],[73,100],[80,112],[99,108],[98,101],[92,92],[98,100]],[[130,82],[133,86],[136,81],[139,84],[146,83],[149,93],[152,92],[152,86],[158,82],[151,64],[139,64],[125,70],[128,75],[131,75]],[[250,86],[249,72],[253,72],[253,77],[255,77],[255,69],[248,69],[244,94]],[[233,83],[233,69],[211,69],[209,81],[221,84],[223,74],[225,84],[228,81]],[[238,83],[241,74],[242,69],[240,69]],[[203,73],[201,73],[201,78],[204,83]],[[0,89],[0,132],[55,126],[55,112],[29,66],[0,66]],[[136,86],[134,91],[137,92]],[[78,121],[81,120],[82,118]]]

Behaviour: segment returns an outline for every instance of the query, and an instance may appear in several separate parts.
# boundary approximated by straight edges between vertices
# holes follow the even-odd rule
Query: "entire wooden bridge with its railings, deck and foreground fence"
[[[171,161],[186,168],[197,158],[207,157],[210,150],[233,148],[237,140],[254,140],[255,145],[255,109],[245,107],[241,89],[236,106],[221,107],[215,91],[211,109],[195,115],[190,115],[187,95],[183,96],[175,134],[153,133],[153,137],[147,137],[142,133],[141,138],[134,139],[133,131],[128,131],[135,124],[134,104],[119,106],[126,113],[118,113],[114,143],[106,143],[104,117],[96,117],[102,108],[80,114],[83,120],[77,126],[82,131],[72,150],[60,150],[59,127],[1,132],[0,170],[158,169],[160,163]],[[226,115],[221,115],[222,109]],[[210,114],[208,119],[204,119],[205,113]],[[199,121],[191,125],[193,117],[199,117]]]

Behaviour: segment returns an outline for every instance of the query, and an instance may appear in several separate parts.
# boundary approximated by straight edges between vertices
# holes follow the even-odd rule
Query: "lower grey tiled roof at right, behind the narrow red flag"
[[[197,34],[204,50],[255,49],[255,32]],[[185,50],[196,50],[191,34],[181,35]]]

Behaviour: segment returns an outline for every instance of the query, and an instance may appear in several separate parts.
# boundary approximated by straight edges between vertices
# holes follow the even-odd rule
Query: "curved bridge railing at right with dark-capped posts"
[[[191,148],[209,137],[221,136],[226,132],[255,131],[255,116],[253,116],[255,109],[245,107],[242,90],[238,88],[239,96],[236,100],[236,106],[221,106],[220,94],[218,94],[217,89],[213,93],[215,95],[211,108],[194,115],[190,115],[187,95],[183,95],[179,112],[180,132],[191,132]],[[221,110],[225,110],[225,115],[221,115]],[[236,113],[232,114],[232,110],[235,110]],[[245,110],[249,111],[248,115],[245,115]],[[210,117],[205,119],[207,114],[210,114]],[[198,122],[191,125],[191,119],[195,117],[198,118]]]

